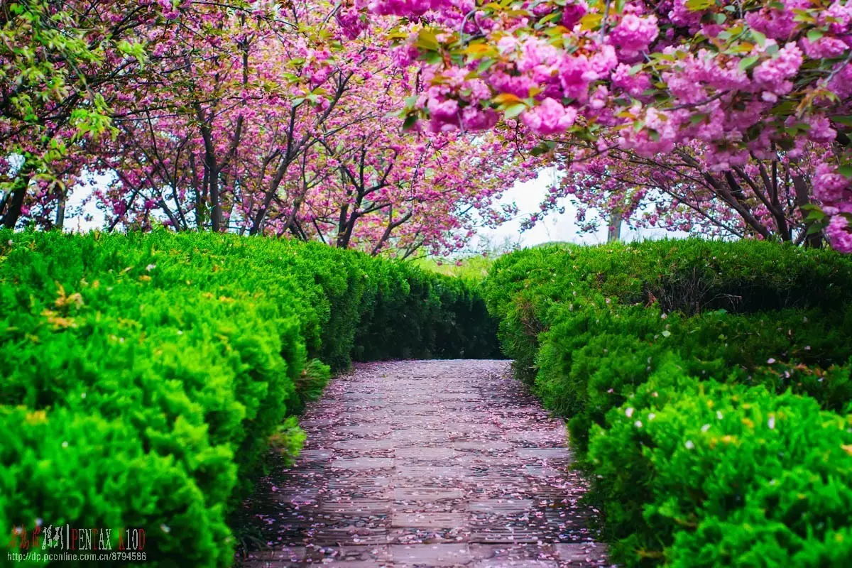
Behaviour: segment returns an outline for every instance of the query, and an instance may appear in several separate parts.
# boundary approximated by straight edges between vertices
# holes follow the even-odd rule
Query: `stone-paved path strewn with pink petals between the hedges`
[[[506,361],[357,364],[302,427],[250,503],[266,546],[247,568],[608,564],[564,426]]]

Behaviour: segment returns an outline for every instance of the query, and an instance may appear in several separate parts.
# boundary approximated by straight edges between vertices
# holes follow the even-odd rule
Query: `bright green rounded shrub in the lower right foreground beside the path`
[[[626,564],[848,566],[852,416],[671,358],[594,427],[589,457]]]

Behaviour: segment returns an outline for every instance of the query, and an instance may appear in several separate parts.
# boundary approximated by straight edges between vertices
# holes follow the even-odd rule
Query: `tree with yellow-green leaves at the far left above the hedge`
[[[152,2],[18,0],[0,6],[0,222],[61,208],[80,146],[111,132],[115,89],[140,72],[140,31],[171,17]],[[49,222],[49,208],[33,212]],[[58,216],[58,220],[61,215]]]

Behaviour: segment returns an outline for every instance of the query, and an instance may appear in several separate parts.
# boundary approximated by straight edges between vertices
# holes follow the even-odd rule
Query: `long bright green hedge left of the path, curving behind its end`
[[[495,344],[465,284],[320,244],[2,232],[0,530],[142,528],[154,565],[231,565],[228,515],[330,367]]]

